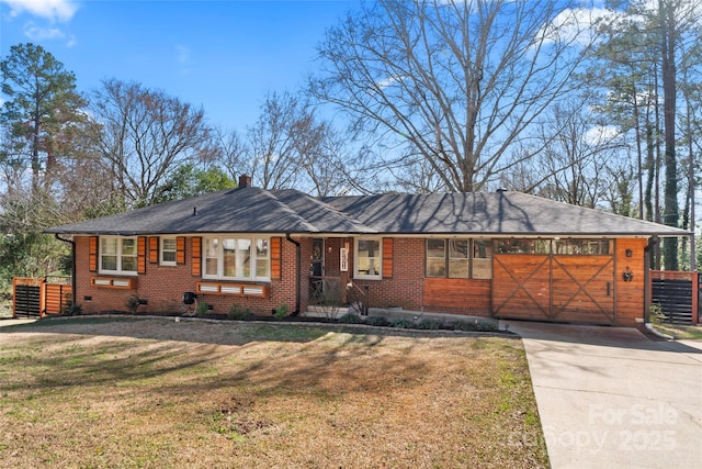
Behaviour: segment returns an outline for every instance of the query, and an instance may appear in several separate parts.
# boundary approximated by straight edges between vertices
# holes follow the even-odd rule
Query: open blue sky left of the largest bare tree
[[[38,44],[89,91],[138,81],[244,131],[267,91],[294,91],[314,70],[325,30],[351,0],[0,0],[0,56]]]

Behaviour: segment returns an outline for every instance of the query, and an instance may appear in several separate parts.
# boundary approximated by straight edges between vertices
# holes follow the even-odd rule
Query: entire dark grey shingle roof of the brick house
[[[316,199],[297,190],[231,189],[47,230],[61,234],[464,234],[684,236],[656,223],[520,192]]]

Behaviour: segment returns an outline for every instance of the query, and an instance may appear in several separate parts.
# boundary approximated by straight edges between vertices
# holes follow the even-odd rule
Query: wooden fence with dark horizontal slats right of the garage
[[[666,321],[698,324],[700,283],[698,272],[650,271],[650,302],[659,304]]]

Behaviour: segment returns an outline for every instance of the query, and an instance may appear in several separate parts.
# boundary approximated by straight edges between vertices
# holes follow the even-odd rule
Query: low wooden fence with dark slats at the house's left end
[[[61,314],[70,306],[71,297],[70,277],[15,277],[12,281],[12,315],[44,317]]]

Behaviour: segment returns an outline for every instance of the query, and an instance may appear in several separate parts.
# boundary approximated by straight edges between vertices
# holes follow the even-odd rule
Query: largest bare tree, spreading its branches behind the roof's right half
[[[386,165],[424,161],[441,189],[479,190],[518,163],[510,148],[574,86],[591,40],[566,3],[364,4],[328,30],[309,92],[383,142]]]

